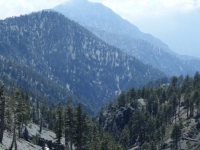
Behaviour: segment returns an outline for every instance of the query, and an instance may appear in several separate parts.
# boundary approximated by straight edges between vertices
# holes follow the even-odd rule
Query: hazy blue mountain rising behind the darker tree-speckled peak
[[[200,59],[174,53],[159,39],[142,33],[136,26],[100,3],[71,0],[53,10],[83,25],[108,44],[167,75],[193,75],[200,70]]]

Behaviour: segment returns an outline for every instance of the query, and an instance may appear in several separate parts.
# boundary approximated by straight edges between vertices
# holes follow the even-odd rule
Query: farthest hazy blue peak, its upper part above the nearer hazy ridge
[[[159,39],[141,32],[136,26],[100,3],[92,3],[88,0],[70,0],[54,7],[53,10],[85,27],[88,26],[89,30],[95,28],[119,35],[131,35],[137,39],[143,39],[154,45],[167,48],[167,45]]]

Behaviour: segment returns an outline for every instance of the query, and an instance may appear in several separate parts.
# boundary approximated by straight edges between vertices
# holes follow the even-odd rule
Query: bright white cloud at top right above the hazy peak
[[[200,8],[200,0],[89,0],[101,2],[128,20],[159,18]]]

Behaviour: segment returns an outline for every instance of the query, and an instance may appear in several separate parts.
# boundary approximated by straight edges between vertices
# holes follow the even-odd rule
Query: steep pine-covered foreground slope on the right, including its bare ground
[[[122,92],[97,116],[100,125],[122,149],[198,150],[199,72],[194,78],[174,76],[170,82],[152,85]]]

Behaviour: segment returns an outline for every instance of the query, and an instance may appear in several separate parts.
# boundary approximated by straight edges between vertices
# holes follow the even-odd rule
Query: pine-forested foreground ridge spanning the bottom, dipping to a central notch
[[[22,132],[31,122],[38,124],[39,133],[44,127],[56,133],[51,145],[55,149],[179,149],[184,142],[185,149],[199,146],[195,143],[200,138],[199,72],[193,78],[162,78],[140,89],[123,91],[92,117],[71,100],[58,103],[54,109],[39,100],[33,103],[28,93],[20,90],[4,94],[4,86],[0,89],[0,142],[5,126],[13,136],[11,146],[17,138],[33,142]]]

